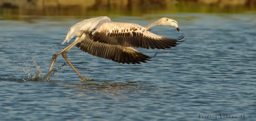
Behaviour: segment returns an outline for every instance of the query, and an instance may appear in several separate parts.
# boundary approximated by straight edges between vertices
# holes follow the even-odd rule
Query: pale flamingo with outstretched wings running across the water
[[[68,60],[66,53],[72,47],[80,48],[93,56],[113,60],[118,63],[140,64],[152,57],[146,56],[132,48],[166,49],[176,46],[176,42],[182,42],[184,35],[178,39],[169,39],[149,32],[149,28],[156,25],[174,26],[180,31],[178,22],[173,19],[161,18],[143,27],[134,23],[114,22],[107,16],[85,19],[68,29],[66,39],[62,44],[69,42],[74,36],[73,43],[52,56],[49,72],[58,55],[68,62],[82,80],[86,80]],[[185,40],[183,40],[185,41]],[[155,57],[155,56],[154,56]]]

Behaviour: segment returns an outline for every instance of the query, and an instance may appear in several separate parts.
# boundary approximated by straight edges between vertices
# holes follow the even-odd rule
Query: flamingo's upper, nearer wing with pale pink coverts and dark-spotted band
[[[89,38],[95,42],[146,49],[171,48],[183,37],[182,35],[180,39],[169,39],[153,34],[138,24],[113,21],[100,23],[89,32]]]

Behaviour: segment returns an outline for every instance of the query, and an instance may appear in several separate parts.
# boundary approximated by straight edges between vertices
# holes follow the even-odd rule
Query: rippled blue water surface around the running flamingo
[[[187,40],[172,49],[139,49],[148,56],[158,54],[148,63],[133,65],[74,47],[67,55],[83,76],[94,79],[90,82],[81,81],[69,65],[60,67],[49,82],[26,81],[36,73],[31,58],[45,75],[52,55],[68,45],[61,45],[67,29],[82,19],[1,20],[0,120],[209,120],[200,114],[230,121],[242,114],[256,119],[255,13],[112,20],[146,26],[154,21],[146,20],[148,16],[173,18],[180,25],[181,32],[155,26],[153,33],[178,38],[184,32]],[[59,56],[54,67],[64,63]]]

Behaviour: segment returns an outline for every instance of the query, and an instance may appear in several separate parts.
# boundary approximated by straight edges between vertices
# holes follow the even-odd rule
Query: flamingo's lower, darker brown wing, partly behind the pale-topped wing
[[[90,39],[77,43],[76,47],[93,56],[102,57],[123,64],[140,64],[140,62],[145,63],[146,60],[152,58],[131,47],[94,42]]]

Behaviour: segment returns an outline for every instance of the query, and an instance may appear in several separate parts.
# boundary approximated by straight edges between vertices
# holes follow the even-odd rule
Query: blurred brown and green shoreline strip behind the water
[[[0,19],[10,16],[142,16],[144,14],[246,13],[256,0],[0,0]],[[15,18],[19,20],[18,18]]]

